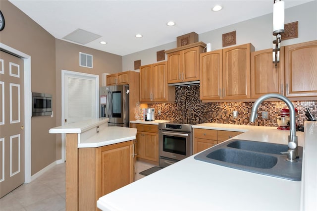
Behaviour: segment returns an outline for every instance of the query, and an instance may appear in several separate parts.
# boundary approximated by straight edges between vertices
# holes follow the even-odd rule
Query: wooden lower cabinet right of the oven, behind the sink
[[[210,129],[193,129],[193,153],[199,153],[203,150],[211,148],[225,140],[241,134],[242,132],[225,131],[225,130],[210,130]]]

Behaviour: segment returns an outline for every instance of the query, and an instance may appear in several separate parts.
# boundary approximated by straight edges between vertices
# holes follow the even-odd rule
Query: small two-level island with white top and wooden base
[[[137,130],[108,127],[108,118],[50,129],[66,134],[66,210],[97,210],[97,200],[134,181]]]

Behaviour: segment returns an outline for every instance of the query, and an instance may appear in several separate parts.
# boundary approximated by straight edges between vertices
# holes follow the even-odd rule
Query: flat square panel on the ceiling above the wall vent
[[[96,34],[91,33],[91,32],[87,32],[83,29],[77,29],[77,30],[73,31],[72,33],[63,37],[63,39],[65,39],[65,40],[69,40],[69,41],[72,41],[75,43],[80,43],[83,45],[90,43],[98,38],[101,38],[101,36],[96,35]]]

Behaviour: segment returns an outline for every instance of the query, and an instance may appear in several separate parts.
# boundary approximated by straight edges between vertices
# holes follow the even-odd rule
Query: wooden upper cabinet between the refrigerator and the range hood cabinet
[[[140,67],[140,102],[175,102],[175,87],[167,85],[167,62]]]

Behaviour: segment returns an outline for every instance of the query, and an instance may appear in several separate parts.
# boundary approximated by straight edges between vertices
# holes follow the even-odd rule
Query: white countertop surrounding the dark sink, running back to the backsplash
[[[289,131],[276,127],[213,123],[193,127],[244,132],[232,139],[288,143]],[[299,146],[304,146],[302,181],[228,168],[191,156],[101,197],[97,206],[103,211],[316,210],[316,135],[317,122],[305,122],[305,134],[297,132]]]

